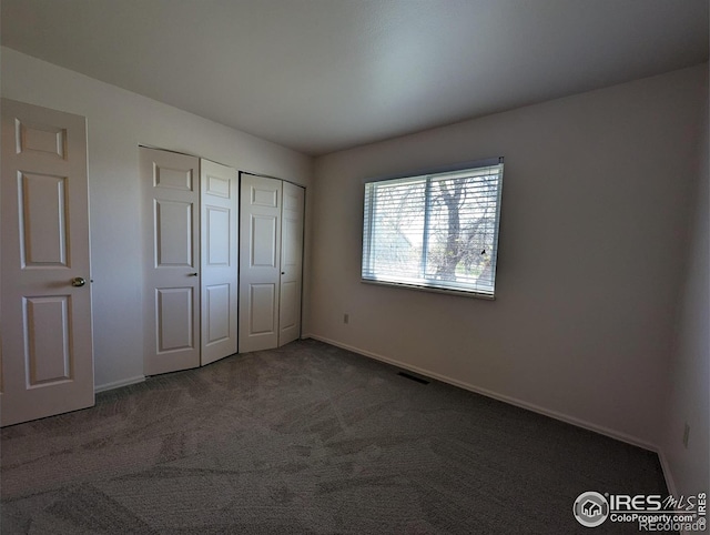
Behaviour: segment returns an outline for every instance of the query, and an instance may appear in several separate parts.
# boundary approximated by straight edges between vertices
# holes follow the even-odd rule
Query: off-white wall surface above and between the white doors
[[[99,388],[143,376],[138,145],[310,185],[312,159],[77,72],[2,49],[2,97],[85,115]]]

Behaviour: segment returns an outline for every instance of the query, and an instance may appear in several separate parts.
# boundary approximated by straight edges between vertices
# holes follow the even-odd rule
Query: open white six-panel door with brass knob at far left
[[[0,422],[94,404],[83,117],[2,99]]]

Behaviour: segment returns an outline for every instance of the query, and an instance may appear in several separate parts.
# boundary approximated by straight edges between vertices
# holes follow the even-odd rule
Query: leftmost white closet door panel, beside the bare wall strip
[[[200,365],[199,160],[141,148],[145,375]]]

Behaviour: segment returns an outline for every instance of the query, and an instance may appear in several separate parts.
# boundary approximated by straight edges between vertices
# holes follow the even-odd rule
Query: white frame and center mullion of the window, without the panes
[[[480,176],[490,176],[497,174],[497,191],[495,192],[495,214],[493,223],[493,250],[488,252],[490,263],[490,284],[481,282],[471,283],[470,281],[446,281],[435,280],[427,276],[427,254],[428,243],[427,238],[430,232],[430,184],[436,180],[456,179],[460,176],[470,176],[478,174]],[[373,243],[377,238],[374,236],[376,232],[376,224],[373,222],[375,218],[376,208],[376,191],[377,188],[384,188],[389,185],[402,185],[408,182],[416,184],[425,184],[425,203],[424,203],[424,223],[422,232],[422,252],[420,252],[420,269],[418,276],[397,276],[393,273],[377,273],[374,265],[376,259],[373,252]],[[475,162],[459,163],[449,165],[446,168],[430,169],[407,175],[396,175],[378,179],[369,179],[364,182],[364,213],[363,213],[363,254],[362,254],[362,270],[361,280],[368,284],[382,284],[387,286],[407,287],[413,290],[422,290],[429,292],[443,292],[456,295],[464,295],[469,297],[479,297],[487,300],[496,299],[496,271],[498,264],[498,238],[500,228],[500,200],[503,194],[503,158],[479,160]],[[412,265],[412,264],[410,264]],[[480,280],[480,277],[479,277]]]

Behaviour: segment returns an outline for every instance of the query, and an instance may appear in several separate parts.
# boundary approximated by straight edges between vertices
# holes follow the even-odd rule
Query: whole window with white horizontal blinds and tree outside
[[[365,184],[364,282],[495,297],[503,159]]]

